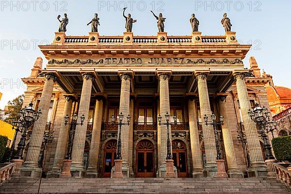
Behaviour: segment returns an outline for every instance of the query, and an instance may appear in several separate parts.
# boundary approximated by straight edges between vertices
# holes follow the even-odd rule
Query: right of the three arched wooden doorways
[[[178,178],[187,178],[187,148],[181,140],[172,141],[174,165],[178,170]]]

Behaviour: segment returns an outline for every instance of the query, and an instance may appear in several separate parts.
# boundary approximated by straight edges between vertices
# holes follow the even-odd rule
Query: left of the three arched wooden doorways
[[[103,178],[111,177],[111,169],[114,166],[114,159],[116,157],[117,140],[110,140],[107,142],[104,149],[104,161],[103,161]]]

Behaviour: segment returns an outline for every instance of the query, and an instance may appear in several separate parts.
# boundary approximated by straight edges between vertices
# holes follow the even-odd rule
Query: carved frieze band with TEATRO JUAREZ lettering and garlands
[[[183,65],[183,64],[243,64],[240,59],[197,58],[99,58],[99,59],[52,59],[49,65]]]

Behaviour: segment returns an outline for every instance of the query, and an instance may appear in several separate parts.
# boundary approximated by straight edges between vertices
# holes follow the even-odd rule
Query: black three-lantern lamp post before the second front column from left
[[[65,160],[71,160],[72,158],[72,148],[73,148],[73,141],[75,137],[75,131],[76,131],[76,126],[77,125],[83,125],[85,116],[84,114],[81,115],[81,123],[77,123],[78,115],[77,113],[74,113],[72,116],[72,122],[68,123],[69,121],[69,115],[65,115],[65,125],[71,125],[71,133],[69,135],[69,142],[68,142],[68,149],[67,149],[67,154],[65,156]]]

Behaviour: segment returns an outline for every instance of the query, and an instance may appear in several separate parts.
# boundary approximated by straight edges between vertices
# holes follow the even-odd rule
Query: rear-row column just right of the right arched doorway
[[[188,115],[189,115],[189,128],[190,128],[190,142],[191,142],[191,153],[193,163],[193,178],[203,176],[203,163],[202,153],[199,142],[199,132],[197,125],[197,110],[194,97],[191,97],[188,101]]]

